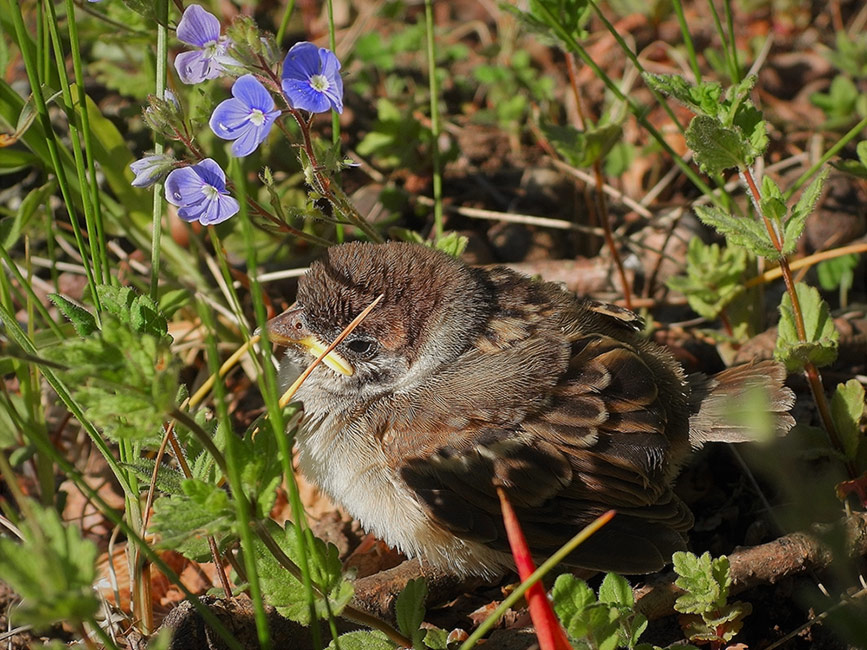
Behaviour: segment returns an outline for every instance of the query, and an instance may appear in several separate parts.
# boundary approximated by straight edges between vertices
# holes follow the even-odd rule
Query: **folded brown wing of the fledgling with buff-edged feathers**
[[[552,334],[465,355],[395,404],[380,430],[400,479],[453,534],[508,550],[498,486],[540,555],[615,508],[568,561],[642,573],[684,547],[692,522],[667,485],[666,426],[639,350]]]

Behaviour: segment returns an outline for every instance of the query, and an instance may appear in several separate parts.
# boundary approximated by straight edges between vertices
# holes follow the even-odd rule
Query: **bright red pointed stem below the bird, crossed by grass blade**
[[[526,580],[536,570],[536,565],[533,563],[527,540],[512,504],[509,502],[509,497],[501,487],[497,487],[497,495],[500,497],[503,523],[506,526],[509,546],[512,549],[512,557],[515,558],[518,575],[521,580]],[[572,646],[566,639],[566,633],[551,608],[551,603],[548,601],[548,595],[545,593],[542,583],[537,582],[531,585],[527,589],[525,597],[530,607],[530,618],[533,619],[533,626],[536,628],[536,636],[539,639],[541,650],[572,650]]]

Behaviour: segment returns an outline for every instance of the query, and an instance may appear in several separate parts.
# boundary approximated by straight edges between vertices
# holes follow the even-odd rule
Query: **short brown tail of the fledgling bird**
[[[783,436],[795,425],[794,393],[784,385],[785,368],[758,361],[711,377],[690,375],[689,442],[750,442]]]

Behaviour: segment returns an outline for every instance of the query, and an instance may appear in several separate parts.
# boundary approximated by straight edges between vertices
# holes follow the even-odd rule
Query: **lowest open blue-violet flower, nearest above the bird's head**
[[[169,174],[166,200],[178,206],[181,219],[198,221],[203,226],[222,223],[240,209],[226,191],[226,174],[210,158]]]

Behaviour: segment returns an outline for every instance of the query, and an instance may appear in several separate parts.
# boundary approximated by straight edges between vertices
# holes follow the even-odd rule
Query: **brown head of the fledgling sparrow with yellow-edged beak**
[[[310,267],[297,304],[268,323],[270,337],[288,346],[287,358],[307,365],[380,295],[325,357],[327,367],[311,375],[320,388],[359,398],[409,388],[472,345],[492,309],[484,276],[445,253],[402,242],[351,243],[328,249]]]

